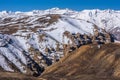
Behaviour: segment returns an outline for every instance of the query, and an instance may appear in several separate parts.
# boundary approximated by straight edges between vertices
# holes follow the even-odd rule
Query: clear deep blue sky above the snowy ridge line
[[[58,7],[72,10],[120,10],[120,0],[0,0],[0,11],[32,11]]]

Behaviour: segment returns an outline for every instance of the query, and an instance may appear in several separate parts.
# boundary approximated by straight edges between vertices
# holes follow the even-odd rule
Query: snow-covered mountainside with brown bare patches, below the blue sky
[[[63,33],[93,34],[93,29],[105,29],[120,40],[120,11],[52,8],[30,12],[0,12],[0,68],[5,71],[26,72],[27,59],[54,61],[63,56],[62,44],[68,43]],[[50,54],[47,54],[51,49]],[[38,54],[37,54],[38,53]],[[41,57],[42,55],[42,57]],[[46,58],[45,58],[46,57]],[[45,61],[45,62],[44,62]],[[49,64],[48,64],[49,65]],[[47,65],[47,66],[48,66]],[[45,65],[43,65],[45,67]]]

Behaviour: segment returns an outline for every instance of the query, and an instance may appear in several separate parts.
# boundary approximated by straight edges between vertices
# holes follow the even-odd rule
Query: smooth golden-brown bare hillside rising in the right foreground
[[[48,67],[47,80],[120,80],[120,44],[85,45]]]

